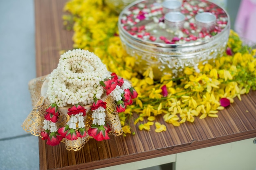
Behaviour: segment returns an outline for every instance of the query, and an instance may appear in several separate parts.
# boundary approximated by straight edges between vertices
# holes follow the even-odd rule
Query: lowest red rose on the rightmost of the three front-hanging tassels
[[[110,131],[109,126],[106,125],[95,125],[92,124],[91,128],[88,130],[88,135],[96,139],[97,141],[110,139],[108,137],[108,132]]]

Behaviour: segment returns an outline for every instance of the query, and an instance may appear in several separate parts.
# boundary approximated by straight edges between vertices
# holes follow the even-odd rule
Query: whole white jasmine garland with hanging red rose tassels
[[[76,140],[87,134],[97,141],[110,139],[110,125],[105,122],[106,102],[101,100],[105,93],[115,100],[117,112],[124,112],[138,95],[130,82],[108,72],[94,53],[74,49],[61,55],[57,68],[49,76],[46,94],[50,105],[44,115],[42,139],[51,146],[58,145],[63,138]],[[66,126],[57,128],[58,107],[67,104],[72,104],[67,112],[69,120]],[[89,104],[93,121],[86,132],[84,119],[88,110],[83,106]]]

